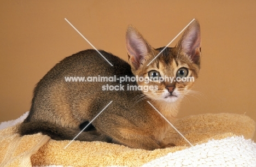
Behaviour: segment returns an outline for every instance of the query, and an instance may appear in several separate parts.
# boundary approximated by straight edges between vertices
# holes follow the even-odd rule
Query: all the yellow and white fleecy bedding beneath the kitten
[[[165,140],[175,147],[154,151],[106,142],[51,140],[40,133],[20,136],[17,120],[0,124],[0,166],[256,166],[255,122],[246,115],[201,114],[173,125]]]

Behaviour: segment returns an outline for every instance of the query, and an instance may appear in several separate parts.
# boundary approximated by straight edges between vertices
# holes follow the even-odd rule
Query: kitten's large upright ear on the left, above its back
[[[145,62],[150,47],[137,29],[129,25],[126,31],[126,49],[129,63],[134,69],[137,70]]]

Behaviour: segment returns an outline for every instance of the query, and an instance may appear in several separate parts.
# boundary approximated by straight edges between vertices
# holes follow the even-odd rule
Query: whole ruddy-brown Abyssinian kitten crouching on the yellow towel
[[[30,113],[19,133],[41,132],[55,140],[72,140],[113,101],[75,140],[105,141],[146,150],[172,146],[163,142],[170,124],[147,101],[168,121],[174,121],[179,104],[194,82],[159,79],[161,76],[197,78],[201,57],[199,23],[194,20],[176,47],[167,47],[150,64],[164,47],[154,49],[133,26],[127,28],[126,48],[129,63],[103,50],[100,52],[113,66],[96,50],[81,51],[57,63],[34,89]],[[121,83],[124,90],[110,91],[103,90],[103,86],[121,86],[119,80],[67,82],[68,76],[142,76],[151,80],[149,83],[127,80]],[[154,89],[129,91],[126,87],[130,85],[152,85]]]

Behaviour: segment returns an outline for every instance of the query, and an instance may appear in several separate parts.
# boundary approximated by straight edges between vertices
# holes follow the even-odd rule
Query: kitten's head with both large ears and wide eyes
[[[147,97],[176,102],[194,85],[201,58],[200,26],[196,20],[185,29],[176,47],[159,49],[150,46],[135,27],[129,26],[126,48],[132,73],[145,79],[137,84],[142,87],[152,85],[151,89],[143,89]]]

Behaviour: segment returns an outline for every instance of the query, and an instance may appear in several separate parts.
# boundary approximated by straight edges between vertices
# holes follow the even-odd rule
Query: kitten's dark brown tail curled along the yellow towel
[[[19,127],[20,135],[42,133],[44,135],[50,136],[51,139],[54,140],[73,140],[79,132],[79,130],[61,127],[57,124],[52,124],[49,122],[23,122]],[[94,130],[89,132],[82,132],[74,140],[111,142],[112,139],[107,135],[101,134]]]

